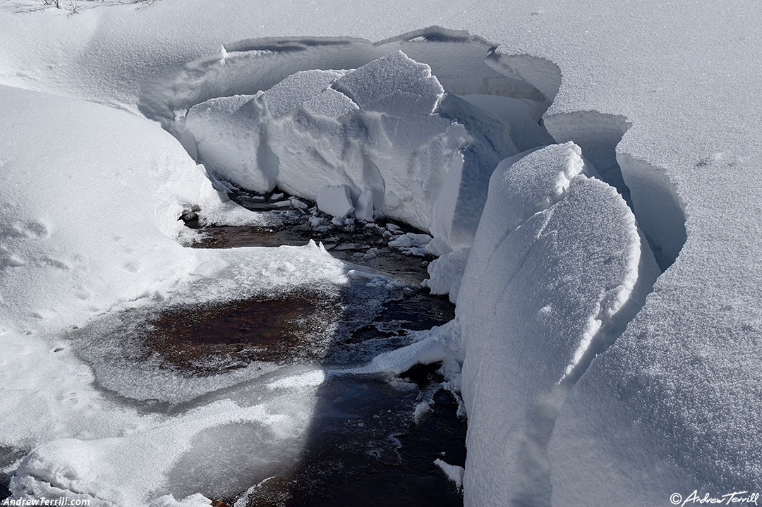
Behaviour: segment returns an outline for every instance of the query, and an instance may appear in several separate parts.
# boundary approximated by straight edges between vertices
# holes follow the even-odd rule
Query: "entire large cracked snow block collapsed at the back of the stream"
[[[379,214],[431,231],[431,251],[447,253],[471,245],[498,162],[552,142],[529,111],[513,110],[511,121],[446,93],[428,65],[397,51],[207,100],[173,128],[219,177],[308,199],[344,184],[353,202],[370,193]]]

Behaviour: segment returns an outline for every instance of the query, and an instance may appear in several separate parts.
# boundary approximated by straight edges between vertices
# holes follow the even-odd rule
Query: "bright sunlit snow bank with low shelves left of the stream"
[[[171,491],[164,481],[184,453],[210,451],[198,450],[199,435],[211,435],[208,445],[219,446],[234,422],[274,435],[267,440],[271,451],[259,442],[258,458],[242,461],[249,470],[282,457],[279,442],[293,448],[307,427],[315,381],[303,383],[297,394],[272,394],[256,403],[245,401],[245,394],[232,402],[236,394],[230,391],[183,416],[143,413],[105,396],[98,385],[102,378],[62,335],[125,308],[340,286],[347,269],[314,243],[277,249],[183,247],[179,217],[184,212],[194,210],[202,222],[267,222],[223,200],[178,142],[137,116],[18,88],[0,87],[0,101],[0,128],[7,132],[0,150],[12,154],[3,160],[0,187],[0,241],[11,259],[0,276],[5,421],[0,441],[35,449],[15,470],[14,493],[98,498],[108,505],[147,505],[165,493],[193,495],[197,490],[184,491],[180,480],[169,481],[176,489]],[[118,140],[113,132],[119,132]],[[107,348],[112,339],[103,336],[93,346]],[[150,365],[127,364],[106,378],[107,387],[136,399],[157,398],[146,396],[148,389],[178,401],[263,373],[249,368],[178,384],[180,376],[165,371],[162,377]],[[274,388],[281,386],[267,391]],[[231,486],[221,475],[209,480]]]

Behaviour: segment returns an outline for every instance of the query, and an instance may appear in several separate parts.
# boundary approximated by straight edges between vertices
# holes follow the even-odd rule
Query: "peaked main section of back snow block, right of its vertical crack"
[[[444,177],[468,139],[463,126],[432,113],[443,94],[437,78],[393,53],[334,87],[268,126],[278,186],[311,199],[339,183],[353,198],[370,190],[375,210],[429,228]]]

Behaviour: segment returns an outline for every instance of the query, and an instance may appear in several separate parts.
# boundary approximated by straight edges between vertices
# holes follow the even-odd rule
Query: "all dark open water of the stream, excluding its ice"
[[[454,317],[447,299],[418,287],[427,277],[431,258],[387,247],[386,222],[370,227],[331,224],[316,231],[306,225],[309,212],[274,209],[270,199],[251,201],[246,193],[233,198],[250,209],[276,213],[280,223],[271,228],[207,228],[197,247],[299,245],[314,239],[335,257],[406,284],[381,297],[362,284],[347,289],[340,317],[343,329],[322,354],[323,365],[365,362],[383,350],[409,343],[408,331],[427,330]],[[197,227],[195,222],[189,225]],[[412,231],[405,225],[398,228]],[[294,314],[330,314],[330,309],[318,308],[317,299],[296,295],[235,303],[187,329],[187,340],[207,343],[222,332],[226,337],[219,341],[242,343],[257,335],[257,343],[267,342],[267,358],[282,360],[283,349],[277,342],[283,336],[283,343],[293,351],[290,320]],[[305,321],[308,326],[310,321]],[[319,403],[299,462],[270,477],[253,478],[252,488],[243,495],[246,505],[463,505],[459,491],[434,465],[437,458],[459,466],[466,461],[466,422],[457,416],[453,394],[441,387],[443,378],[437,367],[414,368],[401,378],[328,378],[319,388]],[[414,420],[419,403],[430,408]],[[221,500],[232,505],[240,498],[236,494]]]

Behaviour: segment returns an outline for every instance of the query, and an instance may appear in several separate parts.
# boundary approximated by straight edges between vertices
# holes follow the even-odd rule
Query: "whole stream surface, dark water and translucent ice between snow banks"
[[[314,207],[278,206],[283,196],[274,196],[232,194],[266,212],[267,226],[200,228],[187,217],[200,229],[194,247],[314,238],[357,264],[351,283],[219,304],[157,301],[107,314],[66,341],[91,365],[105,396],[146,415],[182,417],[219,400],[304,411],[285,436],[235,420],[200,432],[169,474],[175,498],[202,493],[238,506],[462,505],[459,488],[434,464],[462,467],[466,460],[461,402],[439,365],[399,376],[353,371],[411,343],[411,331],[453,318],[447,298],[420,287],[431,257],[387,245],[389,231],[412,231],[405,225],[336,225]],[[242,381],[229,380],[239,371]],[[226,380],[210,390],[216,378]],[[11,461],[14,452],[2,458]]]

